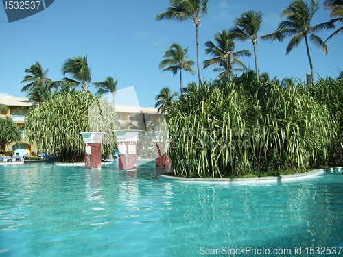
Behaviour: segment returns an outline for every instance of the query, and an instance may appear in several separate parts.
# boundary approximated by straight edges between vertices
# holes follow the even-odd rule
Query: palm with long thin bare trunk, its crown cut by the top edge
[[[201,84],[200,77],[200,58],[199,58],[199,36],[198,30],[200,25],[200,18],[202,14],[207,14],[207,2],[209,0],[170,0],[170,7],[166,12],[156,16],[157,21],[163,19],[174,19],[176,21],[186,21],[191,19],[196,25],[196,59],[198,66],[199,84]]]

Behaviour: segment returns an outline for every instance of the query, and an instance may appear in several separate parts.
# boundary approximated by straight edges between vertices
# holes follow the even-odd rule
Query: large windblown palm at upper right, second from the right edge
[[[314,32],[319,32],[323,29],[333,28],[334,25],[331,22],[320,23],[311,27],[311,19],[314,13],[319,9],[319,4],[316,0],[311,0],[311,5],[307,5],[303,0],[296,0],[290,3],[289,7],[284,9],[281,17],[286,17],[287,21],[281,21],[279,29],[276,33],[280,35],[282,39],[284,36],[294,35],[287,45],[286,54],[292,49],[298,47],[300,41],[305,38],[305,45],[307,50],[307,57],[309,58],[309,66],[311,69],[311,80],[314,82],[314,68],[312,66],[311,56],[309,54],[309,44],[307,41],[307,35],[309,40],[322,49],[324,54],[328,53],[327,45],[316,36]]]

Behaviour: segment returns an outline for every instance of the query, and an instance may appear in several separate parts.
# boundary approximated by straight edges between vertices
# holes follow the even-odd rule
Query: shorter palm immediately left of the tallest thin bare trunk
[[[180,92],[182,94],[182,69],[185,71],[189,71],[190,73],[194,74],[196,73],[193,71],[191,66],[194,64],[191,60],[186,60],[187,58],[187,48],[182,50],[182,47],[176,43],[172,44],[170,49],[165,52],[166,59],[163,60],[160,63],[160,66],[158,66],[162,71],[172,71],[173,76],[175,76],[178,73],[178,70],[180,71]],[[167,68],[164,68],[167,66]],[[164,68],[164,69],[163,69]]]

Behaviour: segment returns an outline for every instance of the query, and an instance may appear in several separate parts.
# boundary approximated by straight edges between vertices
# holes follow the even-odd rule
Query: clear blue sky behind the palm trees
[[[261,11],[263,24],[259,35],[269,34],[282,21],[280,14],[292,1],[275,0],[209,0],[209,13],[202,16],[199,29],[200,64],[206,59],[204,43],[214,40],[216,32],[233,27],[235,17],[246,10]],[[323,1],[322,1],[323,2]],[[329,21],[329,11],[316,12],[312,25]],[[47,77],[60,80],[62,64],[67,58],[88,56],[92,82],[102,82],[111,76],[118,79],[118,89],[134,86],[139,104],[153,107],[159,91],[168,86],[179,91],[179,77],[169,71],[160,71],[158,64],[163,54],[174,42],[189,47],[189,60],[196,62],[196,29],[192,21],[156,21],[156,14],[165,12],[168,0],[55,0],[38,14],[21,21],[8,23],[5,9],[0,7],[0,95],[26,97],[21,93],[24,70],[40,62],[43,69],[49,68]],[[323,40],[333,30],[319,32]],[[281,43],[257,42],[257,62],[260,72],[268,72],[270,77],[299,77],[305,80],[310,73],[305,42],[286,56],[290,38]],[[329,54],[310,45],[314,64],[315,79],[338,77],[343,70],[343,34],[327,42]],[[248,42],[237,42],[235,51],[248,49]],[[240,59],[248,69],[255,69],[253,56]],[[202,78],[216,79],[218,73],[209,67],[202,70]],[[193,66],[196,71],[196,65]],[[197,75],[182,74],[182,84],[196,82]],[[90,90],[93,87],[90,87]],[[93,90],[95,91],[95,90]]]

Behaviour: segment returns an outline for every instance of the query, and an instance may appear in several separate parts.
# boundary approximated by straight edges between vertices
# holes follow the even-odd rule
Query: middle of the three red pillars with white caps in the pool
[[[137,169],[137,140],[141,130],[113,130],[117,135],[119,169]]]

